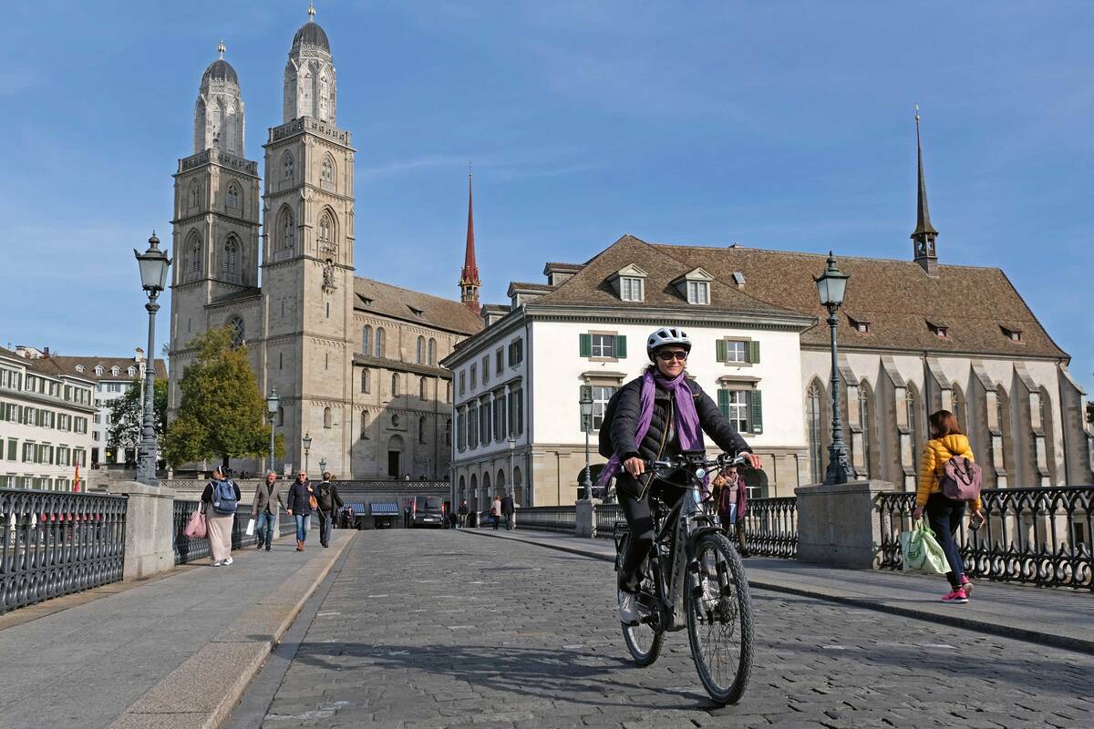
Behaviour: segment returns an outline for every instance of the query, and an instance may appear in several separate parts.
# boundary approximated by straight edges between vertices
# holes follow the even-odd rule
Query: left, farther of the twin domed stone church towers
[[[194,105],[194,154],[179,160],[174,174],[171,410],[178,405],[176,378],[190,361],[194,337],[229,325],[245,341],[260,324],[255,314],[220,305],[257,291],[260,189],[258,164],[243,156],[240,80],[224,60],[223,40],[218,50]]]

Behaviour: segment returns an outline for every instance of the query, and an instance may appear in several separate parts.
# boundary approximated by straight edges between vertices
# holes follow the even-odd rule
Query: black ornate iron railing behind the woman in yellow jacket
[[[985,524],[957,530],[970,577],[1094,590],[1094,486],[991,489],[980,492]],[[900,531],[911,527],[915,493],[877,496],[881,546],[875,566],[899,569]]]

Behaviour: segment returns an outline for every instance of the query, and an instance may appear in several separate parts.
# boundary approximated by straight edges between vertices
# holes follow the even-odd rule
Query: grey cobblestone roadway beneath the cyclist
[[[351,549],[264,727],[1092,726],[1094,657],[763,591],[748,691],[719,707],[686,632],[630,662],[610,564],[452,531]]]

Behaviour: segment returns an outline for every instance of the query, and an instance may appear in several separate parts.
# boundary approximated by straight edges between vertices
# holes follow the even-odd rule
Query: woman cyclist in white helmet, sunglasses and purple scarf
[[[703,450],[706,431],[722,450],[747,454],[745,457],[753,468],[761,467],[759,457],[752,452],[710,396],[687,378],[685,364],[690,351],[691,340],[678,327],[662,327],[650,334],[645,353],[652,364],[641,377],[622,386],[610,423],[615,455],[605,467],[602,481],[616,475],[616,494],[630,528],[618,573],[619,621],[627,625],[640,618],[636,599],[640,568],[653,544],[650,510],[653,474],[645,473],[645,462]],[[664,481],[686,483],[685,479],[672,475]],[[679,489],[662,490],[661,497],[675,503],[683,493]]]

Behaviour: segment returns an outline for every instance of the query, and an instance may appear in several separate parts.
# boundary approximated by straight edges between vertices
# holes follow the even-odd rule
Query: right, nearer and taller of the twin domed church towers
[[[269,130],[263,224],[264,391],[276,387],[286,462],[348,474],[352,438],[353,155],[335,126],[335,67],[315,8],[292,39],[284,119]],[[314,468],[313,468],[314,470]]]

